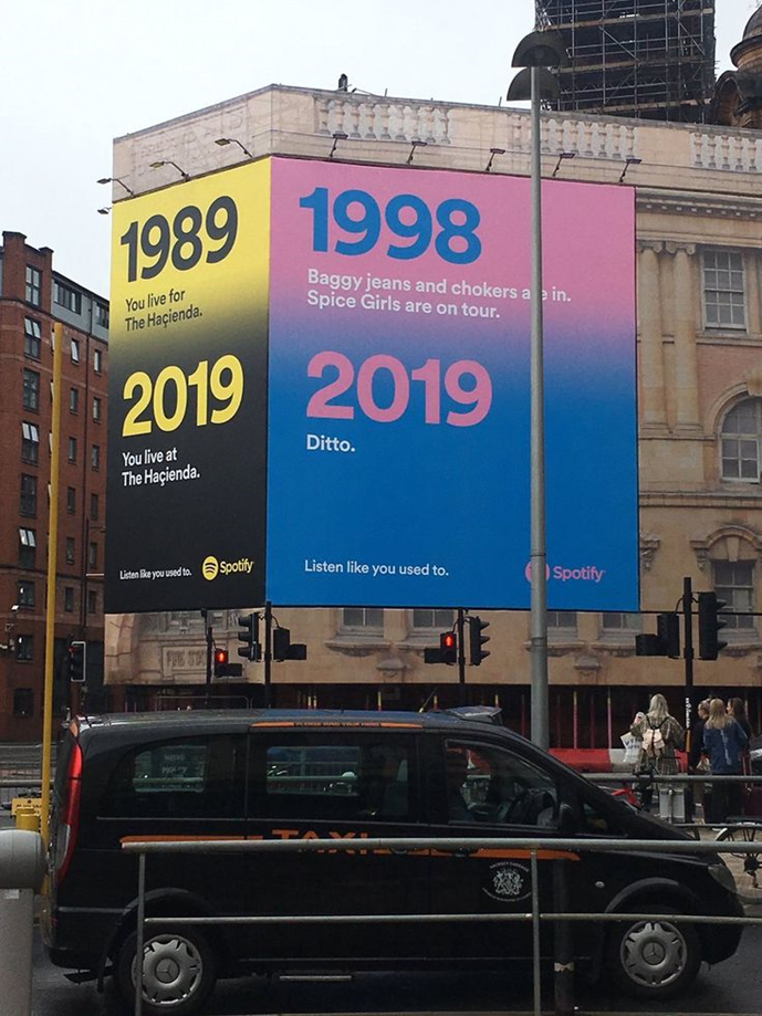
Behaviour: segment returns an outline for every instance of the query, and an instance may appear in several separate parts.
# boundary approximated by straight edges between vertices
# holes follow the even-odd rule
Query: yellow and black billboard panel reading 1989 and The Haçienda
[[[112,214],[106,610],[259,603],[270,165]]]

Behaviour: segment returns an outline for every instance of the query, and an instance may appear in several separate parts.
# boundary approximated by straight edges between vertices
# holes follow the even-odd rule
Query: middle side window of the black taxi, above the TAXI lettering
[[[249,815],[331,821],[415,821],[413,741],[295,735],[252,748]]]

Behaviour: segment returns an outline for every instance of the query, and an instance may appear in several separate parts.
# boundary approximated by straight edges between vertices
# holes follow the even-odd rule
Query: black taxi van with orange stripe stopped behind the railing
[[[429,713],[184,711],[77,719],[59,752],[46,945],[59,966],[112,972],[134,994],[137,858],[127,839],[335,839],[321,852],[152,855],[144,1012],[198,1012],[249,973],[500,967],[531,955],[526,851],[511,840],[685,838],[503,727],[493,710]],[[498,849],[364,849],[376,837],[499,838]],[[574,924],[577,963],[641,998],[678,994],[740,929],[648,914],[738,917],[717,856],[545,850],[568,861],[571,909],[643,913]],[[441,920],[445,915],[452,920]],[[484,920],[459,921],[459,915]],[[192,923],[191,918],[271,918]],[[331,923],[310,918],[379,917]],[[431,918],[439,920],[430,920]],[[300,918],[301,920],[293,920]],[[306,920],[305,920],[306,919]],[[427,920],[429,919],[429,920]],[[550,953],[551,933],[543,949]]]

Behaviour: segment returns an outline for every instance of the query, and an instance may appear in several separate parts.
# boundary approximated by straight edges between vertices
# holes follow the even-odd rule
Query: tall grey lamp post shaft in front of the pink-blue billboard
[[[542,177],[540,164],[540,70],[532,82],[532,358],[531,358],[531,582],[530,664],[532,741],[550,747],[547,710],[547,553],[545,548],[545,412],[542,328]]]

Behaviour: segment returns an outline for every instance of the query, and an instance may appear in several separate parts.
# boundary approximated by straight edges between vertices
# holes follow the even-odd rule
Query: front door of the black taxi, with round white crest
[[[557,835],[561,788],[554,776],[511,746],[473,737],[441,737],[428,745],[432,835],[499,837],[500,849],[441,850],[431,856],[432,913],[526,914],[532,910],[529,851],[518,837]],[[541,910],[552,909],[556,851],[539,856]],[[563,857],[576,860],[577,855]],[[551,930],[543,925],[543,949]],[[523,957],[532,953],[530,921],[443,922],[430,930],[432,960]]]

